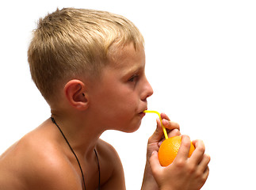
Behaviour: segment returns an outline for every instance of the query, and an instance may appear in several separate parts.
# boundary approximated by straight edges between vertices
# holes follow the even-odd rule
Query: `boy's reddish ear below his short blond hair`
[[[88,108],[88,95],[86,93],[86,86],[83,82],[73,79],[64,87],[64,93],[67,101],[73,108],[78,110],[86,110]]]

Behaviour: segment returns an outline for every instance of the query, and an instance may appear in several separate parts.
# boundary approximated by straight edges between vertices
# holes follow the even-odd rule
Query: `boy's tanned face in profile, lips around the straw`
[[[106,129],[133,132],[139,128],[153,90],[145,76],[143,47],[133,44],[122,48],[104,67],[99,82],[91,91],[90,108],[97,124]]]

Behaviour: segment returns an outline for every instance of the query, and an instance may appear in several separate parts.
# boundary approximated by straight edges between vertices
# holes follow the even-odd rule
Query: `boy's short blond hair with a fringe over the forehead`
[[[92,9],[57,9],[40,18],[29,45],[32,80],[48,101],[59,82],[97,77],[108,63],[109,47],[143,45],[139,29],[125,17]]]

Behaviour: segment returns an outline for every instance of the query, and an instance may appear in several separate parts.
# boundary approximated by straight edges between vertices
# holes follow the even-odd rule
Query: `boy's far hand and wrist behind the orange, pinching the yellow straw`
[[[163,126],[166,127],[166,131],[168,132],[169,137],[181,135],[179,131],[180,127],[177,123],[170,121],[169,117],[166,116],[166,114],[164,113],[161,114],[161,118],[162,118],[162,124]],[[149,160],[151,158],[151,154],[154,151],[159,150],[159,146],[163,140],[164,140],[164,135],[162,131],[162,125],[158,118],[156,130],[154,134],[151,135],[151,137],[148,139],[148,142],[147,142],[147,162],[145,166],[143,185],[141,189],[147,189],[147,190],[159,189],[159,185],[156,183],[155,178],[151,173],[151,166],[149,164]]]

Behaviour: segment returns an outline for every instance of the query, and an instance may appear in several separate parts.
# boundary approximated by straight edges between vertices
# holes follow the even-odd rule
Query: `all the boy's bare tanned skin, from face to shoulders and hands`
[[[107,142],[99,139],[106,130],[136,131],[153,90],[145,76],[143,47],[128,44],[104,67],[97,80],[72,79],[50,102],[52,116],[70,142],[82,166],[86,189],[98,185],[97,150],[101,167],[101,189],[125,189],[120,158]],[[180,135],[179,125],[162,114],[169,136]],[[204,143],[197,140],[190,158],[189,137],[184,136],[177,159],[168,167],[159,164],[156,151],[163,140],[157,128],[147,145],[142,189],[200,189],[208,177],[210,158]],[[82,175],[67,142],[52,123],[45,120],[0,156],[0,189],[82,190]]]

